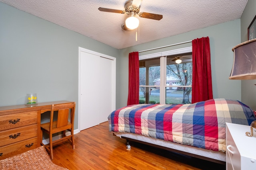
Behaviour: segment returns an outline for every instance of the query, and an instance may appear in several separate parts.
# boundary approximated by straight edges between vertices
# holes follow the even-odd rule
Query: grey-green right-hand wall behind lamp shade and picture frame
[[[241,17],[241,42],[248,40],[248,27],[256,15],[256,1],[248,0]],[[240,80],[241,81],[241,80]],[[256,80],[242,80],[242,102],[256,110]]]

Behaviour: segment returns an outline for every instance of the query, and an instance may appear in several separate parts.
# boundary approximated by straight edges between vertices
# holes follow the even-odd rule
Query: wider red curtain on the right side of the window
[[[209,37],[192,40],[192,103],[213,98],[210,57]]]

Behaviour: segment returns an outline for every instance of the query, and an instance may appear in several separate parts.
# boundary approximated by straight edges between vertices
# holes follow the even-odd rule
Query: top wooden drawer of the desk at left
[[[37,123],[37,111],[0,116],[0,131]]]

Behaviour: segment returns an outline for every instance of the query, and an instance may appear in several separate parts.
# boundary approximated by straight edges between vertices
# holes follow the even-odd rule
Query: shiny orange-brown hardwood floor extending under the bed
[[[126,150],[126,140],[108,131],[108,122],[75,135],[75,149],[69,142],[54,147],[53,162],[70,170],[224,170],[216,164],[133,143]]]

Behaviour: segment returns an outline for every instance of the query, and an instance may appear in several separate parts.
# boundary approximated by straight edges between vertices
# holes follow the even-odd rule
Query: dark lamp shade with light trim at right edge
[[[234,63],[229,79],[256,79],[256,39],[238,44],[232,51],[234,52]]]

